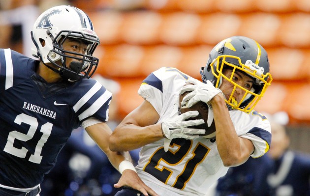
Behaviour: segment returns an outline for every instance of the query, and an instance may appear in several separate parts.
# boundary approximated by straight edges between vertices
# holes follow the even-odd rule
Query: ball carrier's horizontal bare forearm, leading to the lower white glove
[[[109,147],[112,151],[129,151],[161,139],[160,123],[146,127],[120,124],[110,137]]]

